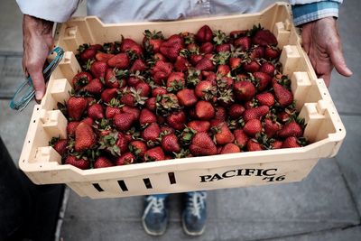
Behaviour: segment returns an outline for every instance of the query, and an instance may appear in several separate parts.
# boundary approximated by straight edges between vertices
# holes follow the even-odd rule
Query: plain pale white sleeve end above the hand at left
[[[63,23],[77,10],[79,0],[16,0],[23,14]]]

